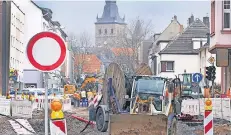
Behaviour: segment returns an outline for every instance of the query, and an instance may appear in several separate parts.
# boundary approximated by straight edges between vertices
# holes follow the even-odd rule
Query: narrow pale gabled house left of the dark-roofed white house
[[[175,15],[162,33],[154,35],[154,42],[150,45],[148,56],[148,64],[154,75],[159,74],[160,70],[160,66],[158,65],[161,60],[159,52],[162,51],[168,43],[175,40],[175,37],[181,34],[182,31],[183,25],[178,22],[177,16]]]

